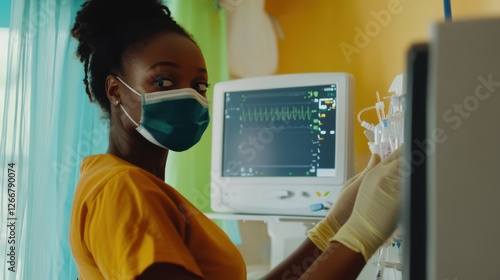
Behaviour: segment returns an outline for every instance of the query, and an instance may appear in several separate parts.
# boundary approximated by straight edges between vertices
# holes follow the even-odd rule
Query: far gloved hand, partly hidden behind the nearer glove
[[[366,168],[354,175],[344,184],[339,196],[332,205],[332,208],[328,211],[326,217],[307,232],[309,239],[321,251],[326,250],[330,243],[330,239],[339,231],[340,227],[347,219],[349,219],[363,178],[367,172],[379,162],[380,156],[372,154]]]

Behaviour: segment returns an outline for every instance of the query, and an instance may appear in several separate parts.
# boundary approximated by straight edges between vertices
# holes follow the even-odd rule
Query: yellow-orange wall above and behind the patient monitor
[[[500,16],[498,0],[451,0],[453,20]],[[426,41],[430,24],[443,21],[438,0],[267,0],[281,24],[278,73],[349,72],[355,78],[354,114],[386,94],[405,71],[406,52]],[[361,30],[367,37],[362,40]],[[344,50],[342,50],[342,47]],[[375,123],[375,115],[364,119]],[[355,169],[370,156],[363,129],[355,122]]]

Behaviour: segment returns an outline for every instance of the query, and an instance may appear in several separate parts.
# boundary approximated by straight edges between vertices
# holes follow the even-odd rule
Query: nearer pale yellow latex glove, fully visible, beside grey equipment
[[[337,241],[366,261],[395,231],[401,202],[401,148],[366,173],[351,216],[331,241]]]

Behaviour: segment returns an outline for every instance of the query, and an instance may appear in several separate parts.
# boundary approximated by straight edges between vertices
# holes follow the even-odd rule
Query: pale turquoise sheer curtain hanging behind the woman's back
[[[1,279],[77,278],[68,229],[78,169],[108,144],[70,37],[81,4],[12,1],[0,97]]]

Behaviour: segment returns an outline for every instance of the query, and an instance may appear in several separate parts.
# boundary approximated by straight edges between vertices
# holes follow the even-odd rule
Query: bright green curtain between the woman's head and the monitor
[[[193,35],[205,57],[212,99],[213,85],[229,79],[226,14],[215,0],[168,0],[174,19]],[[166,181],[202,211],[210,211],[210,160],[212,126],[188,151],[169,152]],[[234,243],[241,242],[235,221],[217,221]]]

